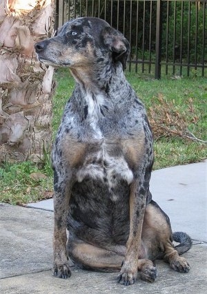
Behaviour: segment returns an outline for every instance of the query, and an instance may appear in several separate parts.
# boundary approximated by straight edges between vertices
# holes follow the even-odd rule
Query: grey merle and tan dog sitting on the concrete
[[[149,190],[152,131],[124,76],[127,39],[106,21],[81,17],[34,47],[41,63],[68,67],[76,81],[52,151],[53,275],[70,277],[72,260],[83,269],[119,271],[118,282],[126,286],[137,271],[154,282],[157,258],[188,272],[179,255],[192,241],[172,233]]]

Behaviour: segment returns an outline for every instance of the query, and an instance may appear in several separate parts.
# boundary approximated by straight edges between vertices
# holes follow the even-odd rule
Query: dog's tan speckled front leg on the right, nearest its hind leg
[[[119,274],[119,282],[126,286],[137,279],[138,258],[141,249],[141,231],[146,208],[147,189],[137,180],[130,187],[130,234],[126,244],[126,255]]]

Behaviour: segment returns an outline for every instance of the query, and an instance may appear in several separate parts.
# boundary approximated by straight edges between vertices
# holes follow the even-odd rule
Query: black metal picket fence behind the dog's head
[[[130,71],[206,76],[207,0],[57,0],[57,27],[84,16],[123,32],[131,46]]]

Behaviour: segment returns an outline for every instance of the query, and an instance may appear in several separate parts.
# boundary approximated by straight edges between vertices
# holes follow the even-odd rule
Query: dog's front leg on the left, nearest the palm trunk
[[[54,263],[52,274],[58,277],[70,277],[68,256],[66,253],[66,221],[70,200],[70,187],[68,178],[54,176],[54,235],[53,235],[53,255]]]

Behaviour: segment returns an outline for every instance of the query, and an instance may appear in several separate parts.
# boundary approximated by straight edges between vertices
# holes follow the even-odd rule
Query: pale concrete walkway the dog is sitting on
[[[52,200],[28,208],[0,204],[0,293],[188,293],[207,288],[207,162],[160,169],[152,173],[152,197],[170,216],[173,231],[186,231],[195,241],[185,254],[189,273],[177,273],[157,262],[150,284],[117,284],[117,273],[72,268],[70,279],[52,277]]]

